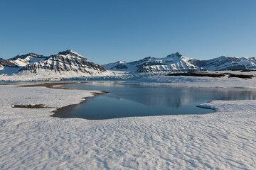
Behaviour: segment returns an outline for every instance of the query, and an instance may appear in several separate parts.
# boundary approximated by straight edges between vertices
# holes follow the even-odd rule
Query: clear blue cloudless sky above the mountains
[[[97,64],[256,56],[255,0],[0,0],[0,57],[72,49]]]

